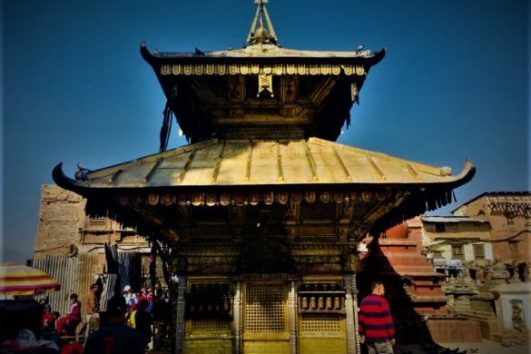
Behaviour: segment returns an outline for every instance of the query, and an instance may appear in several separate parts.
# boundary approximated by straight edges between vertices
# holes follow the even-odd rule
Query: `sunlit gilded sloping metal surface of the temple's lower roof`
[[[214,139],[93,171],[75,184],[89,188],[431,184],[460,178],[452,176],[447,167],[420,164],[317,138]]]

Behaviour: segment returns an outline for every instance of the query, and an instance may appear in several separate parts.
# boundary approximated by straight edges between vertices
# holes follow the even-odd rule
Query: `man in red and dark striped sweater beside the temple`
[[[395,344],[395,327],[389,310],[389,303],[383,297],[384,285],[380,281],[372,283],[372,294],[360,304],[360,342],[366,343],[369,354],[392,354]]]

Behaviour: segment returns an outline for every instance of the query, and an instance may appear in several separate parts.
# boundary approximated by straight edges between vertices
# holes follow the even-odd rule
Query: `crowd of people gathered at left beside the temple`
[[[20,331],[16,338],[2,343],[0,353],[147,352],[153,337],[152,288],[134,292],[127,285],[122,294],[109,299],[105,311],[100,307],[100,293],[100,286],[91,284],[83,304],[78,294],[72,293],[69,310],[64,315],[53,311],[47,298],[40,299],[40,328]],[[82,309],[86,315],[84,320]],[[28,351],[31,348],[35,350]]]

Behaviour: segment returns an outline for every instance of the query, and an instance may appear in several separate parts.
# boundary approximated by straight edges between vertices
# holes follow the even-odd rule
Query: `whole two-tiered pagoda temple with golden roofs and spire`
[[[175,353],[359,353],[357,247],[446,205],[475,169],[336,143],[385,50],[140,47],[166,96],[160,151],[54,181],[145,235],[172,287]],[[190,142],[167,150],[173,118]]]

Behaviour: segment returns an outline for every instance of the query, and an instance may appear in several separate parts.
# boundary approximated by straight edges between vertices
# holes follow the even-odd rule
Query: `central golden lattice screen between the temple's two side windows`
[[[245,331],[284,332],[285,295],[282,284],[248,285],[245,303]]]

